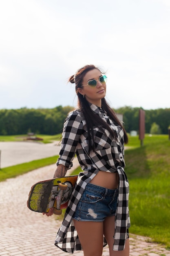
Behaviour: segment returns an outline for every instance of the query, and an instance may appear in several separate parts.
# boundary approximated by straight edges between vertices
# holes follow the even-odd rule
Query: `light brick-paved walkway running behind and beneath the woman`
[[[73,167],[77,167],[76,160]],[[55,215],[49,218],[42,216],[26,206],[31,186],[53,177],[54,170],[55,164],[0,183],[0,255],[71,255],[54,245],[61,220]],[[147,241],[148,238],[130,235],[130,256],[170,256],[170,251]],[[72,255],[84,254],[75,252]],[[103,249],[103,256],[109,256],[108,247]]]

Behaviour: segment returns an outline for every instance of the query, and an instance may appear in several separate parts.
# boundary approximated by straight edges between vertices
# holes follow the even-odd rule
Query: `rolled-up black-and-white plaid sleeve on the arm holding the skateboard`
[[[77,110],[70,112],[64,122],[61,150],[57,165],[62,164],[70,169],[76,153],[77,144],[83,131],[82,118]]]

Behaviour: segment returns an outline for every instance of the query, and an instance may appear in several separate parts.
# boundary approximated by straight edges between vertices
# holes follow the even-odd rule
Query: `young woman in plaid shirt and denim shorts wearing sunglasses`
[[[124,172],[126,131],[105,100],[107,77],[86,65],[69,81],[75,83],[78,108],[68,114],[54,177],[71,168],[75,156],[82,172],[71,195],[55,245],[65,252],[84,251],[102,256],[128,256],[130,227],[129,185]],[[46,213],[51,216],[53,210]]]

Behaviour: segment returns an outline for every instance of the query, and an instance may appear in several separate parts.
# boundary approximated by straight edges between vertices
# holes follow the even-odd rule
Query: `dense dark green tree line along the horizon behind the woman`
[[[62,132],[64,119],[73,108],[57,106],[52,109],[2,109],[0,110],[0,135],[22,135],[28,132],[55,135]],[[139,130],[139,109],[130,106],[114,109],[123,115],[127,132]],[[170,128],[170,108],[145,110],[146,133],[157,127],[157,133],[168,134]]]

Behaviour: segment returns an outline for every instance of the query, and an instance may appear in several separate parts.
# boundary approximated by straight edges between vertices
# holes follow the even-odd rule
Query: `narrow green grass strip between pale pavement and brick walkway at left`
[[[16,177],[18,175],[21,175],[23,173],[27,173],[29,171],[33,171],[35,169],[38,169],[40,167],[44,167],[50,164],[55,164],[57,161],[58,156],[53,156],[53,157],[47,157],[44,159],[39,159],[39,160],[33,160],[28,163],[24,164],[17,164],[14,166],[9,166],[6,168],[0,169],[0,182],[12,177]]]

